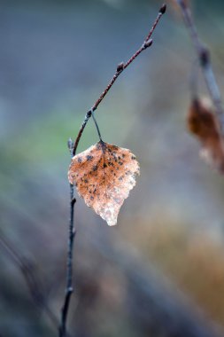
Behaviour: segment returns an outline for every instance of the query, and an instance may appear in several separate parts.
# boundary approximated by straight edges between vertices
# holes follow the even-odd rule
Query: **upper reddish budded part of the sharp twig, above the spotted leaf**
[[[146,36],[143,45],[137,50],[135,51],[135,54],[127,60],[126,63],[121,62],[116,69],[115,74],[112,76],[112,80],[109,82],[109,84],[106,86],[106,88],[104,89],[104,91],[102,92],[102,94],[100,95],[100,97],[97,99],[97,101],[95,102],[95,104],[89,109],[88,113],[85,115],[85,119],[81,124],[81,129],[78,133],[78,136],[75,139],[74,145],[73,145],[73,155],[75,155],[77,147],[79,145],[80,139],[81,139],[81,135],[83,130],[85,129],[89,118],[92,115],[92,111],[97,110],[97,107],[99,106],[99,104],[102,102],[102,100],[104,99],[105,95],[108,93],[108,91],[112,88],[113,83],[118,79],[118,77],[120,76],[120,74],[134,61],[134,59],[136,59],[136,57],[141,54],[142,51],[146,50],[148,47],[151,46],[152,44],[152,40],[151,40],[151,35],[154,32],[155,28],[158,25],[158,22],[160,20],[160,18],[162,17],[162,15],[166,12],[166,4],[163,4],[161,6],[161,8],[158,11],[158,16],[157,19],[155,20],[155,22],[153,23],[152,27],[151,27],[151,31],[150,33]]]

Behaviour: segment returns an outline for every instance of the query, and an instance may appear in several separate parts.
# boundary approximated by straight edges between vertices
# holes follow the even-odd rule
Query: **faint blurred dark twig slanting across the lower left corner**
[[[51,323],[58,328],[58,318],[50,309],[46,296],[43,294],[40,280],[34,274],[32,265],[27,259],[20,255],[15,247],[4,237],[1,233],[0,246],[4,249],[4,252],[11,258],[12,262],[19,267],[23,277],[27,282],[29,292],[38,307],[45,310],[46,314],[50,318]]]

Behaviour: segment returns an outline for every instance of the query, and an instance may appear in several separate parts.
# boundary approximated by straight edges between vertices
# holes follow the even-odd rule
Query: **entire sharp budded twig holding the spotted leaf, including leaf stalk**
[[[85,119],[81,124],[81,129],[75,139],[75,142],[73,143],[72,139],[69,139],[68,141],[68,147],[71,154],[71,157],[73,158],[73,155],[75,155],[77,146],[79,145],[81,135],[83,130],[85,129],[89,118],[93,115],[94,117],[94,111],[97,110],[97,106],[102,102],[108,91],[112,88],[113,83],[117,80],[117,78],[120,76],[120,74],[123,72],[124,69],[126,69],[133,61],[136,59],[136,57],[141,54],[142,51],[149,48],[152,44],[151,35],[154,32],[155,28],[158,25],[158,21],[160,20],[161,16],[166,12],[166,4],[163,4],[161,8],[159,9],[157,19],[153,23],[151,27],[150,33],[146,36],[143,45],[135,51],[135,54],[127,60],[126,63],[120,63],[117,66],[116,72],[112,77],[111,82],[106,86],[101,96],[97,99],[96,103],[89,109],[88,113],[85,115]],[[94,121],[96,123],[97,132],[100,140],[102,140],[98,126],[97,121],[94,118]],[[66,337],[66,320],[67,320],[67,314],[69,310],[69,304],[71,295],[73,294],[73,239],[75,236],[75,230],[73,226],[73,207],[75,203],[75,199],[73,198],[73,184],[70,184],[70,222],[69,222],[69,239],[68,239],[68,251],[67,251],[67,271],[66,271],[66,295],[65,295],[65,301],[61,310],[61,321],[59,326],[59,337]]]

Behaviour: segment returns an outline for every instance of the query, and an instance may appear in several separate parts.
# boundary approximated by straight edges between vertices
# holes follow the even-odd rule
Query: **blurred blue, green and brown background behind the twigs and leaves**
[[[66,285],[67,139],[143,43],[162,3],[0,1],[0,336],[57,336]],[[97,110],[141,165],[108,227],[75,205],[71,336],[224,335],[224,179],[185,125],[196,55],[167,2],[152,47]],[[224,92],[224,3],[191,2]],[[203,76],[199,88],[206,95]],[[78,151],[97,142],[92,121]]]

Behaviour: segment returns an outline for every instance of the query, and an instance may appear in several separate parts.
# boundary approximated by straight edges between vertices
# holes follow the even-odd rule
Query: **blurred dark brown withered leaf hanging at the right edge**
[[[224,173],[224,144],[219,123],[205,100],[195,99],[189,108],[188,129],[202,145],[201,157]]]

